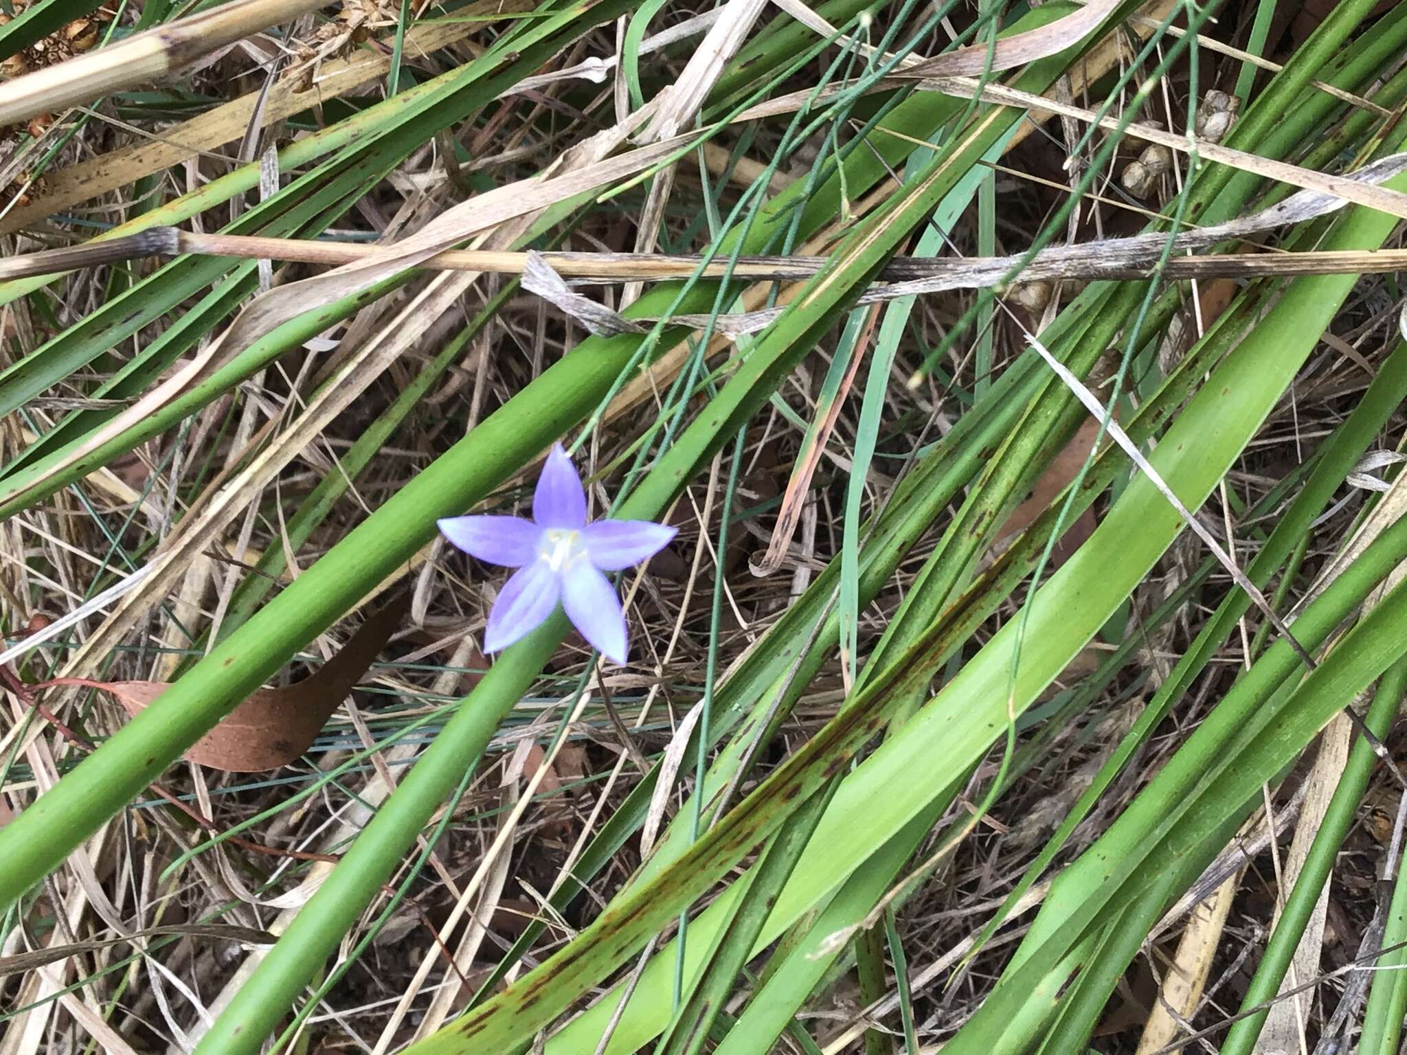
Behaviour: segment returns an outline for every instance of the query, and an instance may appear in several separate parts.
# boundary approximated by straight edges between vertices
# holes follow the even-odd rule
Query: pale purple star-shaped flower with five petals
[[[675,529],[650,520],[587,523],[587,492],[571,459],[557,443],[537,477],[532,519],[449,516],[445,536],[471,557],[518,568],[488,613],[484,651],[497,653],[526,637],[557,602],[573,626],[602,656],[626,658],[625,610],[604,571],[620,571],[663,550]]]

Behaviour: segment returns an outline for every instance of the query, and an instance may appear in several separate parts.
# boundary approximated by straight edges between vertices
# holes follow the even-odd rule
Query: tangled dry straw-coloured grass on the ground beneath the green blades
[[[152,6],[160,8],[158,23],[180,13],[151,0],[100,7],[11,55],[4,72],[14,76],[87,52],[114,28],[138,25]],[[1150,13],[1159,18],[1171,7],[1151,4]],[[1225,4],[1217,24],[1204,30],[1209,46],[1196,58],[1203,91],[1216,89],[1231,97],[1242,63],[1211,45],[1244,46],[1256,7]],[[1266,37],[1268,55],[1285,58],[1303,45],[1313,28],[1301,23],[1310,7],[1278,6]],[[21,11],[17,4],[15,14]],[[651,34],[667,37],[671,27],[698,14],[702,11],[668,4],[650,24]],[[961,31],[975,15],[975,7],[961,7],[946,28]],[[259,186],[189,217],[194,231],[219,229],[300,174],[298,169],[280,170],[277,162],[270,170],[270,149],[305,139],[386,97],[393,56],[400,59],[395,79],[405,90],[480,58],[512,24],[511,18],[497,21],[477,11],[456,20],[439,8],[346,0],[204,55],[179,77],[113,94],[91,108],[37,115],[11,128],[0,146],[0,184],[8,187],[10,205],[8,218],[0,219],[6,253],[69,245],[265,159]],[[1137,41],[1133,28],[1126,28],[1126,37]],[[691,39],[666,41],[649,52],[642,77],[651,91],[678,79],[691,56]],[[936,31],[930,53],[946,44],[943,30]],[[626,106],[622,80],[591,66],[616,53],[613,24],[581,35],[533,83],[519,84],[470,121],[425,136],[404,162],[339,212],[324,236],[391,242],[476,194],[549,170],[570,145],[611,127]],[[1130,53],[1126,39],[1120,60],[1127,62]],[[778,94],[812,87],[823,65],[817,60],[792,72],[778,83]],[[1072,87],[1065,82],[1067,94]],[[1086,100],[1082,84],[1072,98],[1092,107],[1103,101]],[[236,100],[243,108],[232,108]],[[1150,117],[1180,129],[1188,124],[1188,103],[1189,69],[1182,63],[1159,82],[1157,113]],[[812,135],[771,176],[774,190],[806,180],[817,155],[829,149],[827,138],[855,135],[864,120],[865,114],[857,113],[839,132]],[[1024,127],[1021,142],[992,166],[995,224],[983,229],[978,208],[968,210],[951,228],[950,252],[991,256],[1030,245],[1065,201],[1072,172],[1096,163],[1097,139],[1074,151],[1082,134],[1074,121]],[[554,246],[629,253],[640,248],[642,217],[657,210],[663,215],[660,246],[698,252],[709,225],[741,200],[751,177],[784,149],[789,148],[775,124],[715,139],[691,163],[673,170],[663,198],[651,191],[660,183],[639,183],[578,210],[570,224],[563,221]],[[1069,219],[1072,239],[1138,232],[1150,214],[1172,207],[1186,179],[1169,151],[1144,143],[1120,143],[1097,163],[1102,167],[1093,190]],[[160,266],[158,260],[136,260],[94,267],[70,274],[62,286],[41,286],[11,298],[0,316],[6,377],[25,356],[80,328]],[[318,271],[284,264],[267,269],[256,281],[283,286]],[[160,553],[165,540],[207,509],[224,484],[262,452],[286,442],[286,429],[317,398],[319,384],[339,377],[338,370],[353,362],[359,347],[404,328],[402,312],[435,281],[422,271],[384,291],[179,425],[108,460],[82,487],[58,490],[4,520],[0,609],[7,641],[44,632],[87,605],[111,575],[129,574]],[[1142,373],[1128,377],[1131,397],[1121,414],[1137,409],[1245,284],[1213,279],[1179,287],[1182,302],[1159,332],[1155,354],[1140,360]],[[864,467],[864,518],[889,504],[920,452],[938,442],[969,411],[975,395],[1017,362],[1027,332],[1040,332],[1083,287],[1072,279],[1002,290],[983,324],[985,338],[958,340],[927,373],[931,349],[944,343],[981,294],[919,298],[898,343],[877,447]],[[636,294],[630,287],[590,287],[591,297],[613,309],[625,308]],[[221,295],[219,287],[208,295]],[[144,322],[0,419],[0,460],[18,459],[37,436],[65,428],[72,415],[96,421],[94,415],[132,405],[146,384],[172,377],[190,350],[177,338],[197,300],[187,298]],[[1256,553],[1289,501],[1282,485],[1301,478],[1296,474],[1383,370],[1399,340],[1400,300],[1392,274],[1358,283],[1290,391],[1225,474],[1220,494],[1197,513],[1237,560],[1245,563]],[[476,319],[491,304],[491,316],[478,325]],[[331,415],[312,442],[260,481],[238,515],[198,537],[177,585],[142,609],[121,633],[121,643],[97,657],[84,677],[176,681],[215,640],[248,619],[241,591],[250,581],[265,582],[269,592],[294,582],[407,480],[481,428],[587,336],[578,319],[540,297],[515,291],[507,276],[464,280],[445,305],[438,315],[426,314],[424,326],[405,340],[404,353],[350,405]],[[471,336],[466,339],[466,333]],[[839,338],[839,328],[833,329],[779,381],[764,409],[747,423],[736,452],[720,452],[708,471],[687,482],[668,511],[668,522],[680,529],[675,542],[642,574],[623,580],[632,626],[639,627],[633,663],[594,675],[590,648],[570,637],[533,692],[498,727],[478,765],[466,761],[464,784],[422,833],[419,848],[395,871],[386,895],[340,938],[346,969],[318,996],[305,1020],[298,1041],[305,1049],[381,1052],[425,1038],[470,1007],[481,986],[487,983],[494,992],[504,985],[495,965],[529,921],[545,923],[546,931],[523,957],[523,966],[540,964],[566,945],[626,888],[651,840],[688,798],[692,762],[682,755],[687,734],[681,741],[678,730],[709,689],[709,671],[726,678],[843,554],[861,401],[858,388],[836,398],[827,387],[833,384],[827,378],[836,371]],[[142,354],[163,340],[172,346],[170,356]],[[983,340],[989,342],[985,350]],[[715,347],[722,356],[713,359],[713,380],[722,384],[732,369],[727,359],[733,346],[715,339]],[[844,354],[850,352],[844,349]],[[844,363],[841,359],[840,366]],[[1090,387],[1099,391],[1100,383],[1107,385],[1117,363],[1114,349],[1088,378]],[[141,385],[124,387],[128,376]],[[910,385],[916,376],[922,383]],[[653,442],[658,422],[680,407],[685,408],[681,421],[702,414],[712,398],[712,390],[701,387],[691,399],[675,404],[657,376],[642,377],[632,378],[580,456],[584,474],[590,474],[591,501],[602,511],[632,480],[632,460],[642,445]],[[414,399],[407,399],[407,392]],[[809,478],[798,488],[794,466],[810,450],[812,423],[832,405],[833,425]],[[1382,425],[1375,450],[1306,536],[1296,570],[1268,591],[1275,592],[1278,605],[1306,594],[1375,495],[1396,478],[1404,426],[1407,415],[1400,408]],[[1017,532],[1057,501],[1083,466],[1096,432],[1097,423],[1090,422],[1047,452],[1044,461],[1033,463],[1020,504],[1005,511],[1002,526],[988,529],[978,568],[988,567]],[[369,435],[380,436],[374,452],[363,450]],[[725,530],[720,518],[730,457],[736,459],[732,471],[737,482]],[[504,512],[522,508],[530,478],[532,467],[523,466],[490,505]],[[329,481],[342,482],[333,487]],[[1069,525],[1047,574],[1090,536],[1117,494],[1119,485]],[[957,522],[960,505],[951,504],[929,526],[862,608],[860,654],[867,656],[896,618]],[[317,516],[303,519],[312,508]],[[273,573],[265,563],[270,554],[279,565]],[[722,603],[715,610],[719,577]],[[421,747],[435,737],[456,701],[483,678],[488,661],[477,641],[501,585],[498,570],[471,561],[443,540],[424,547],[398,582],[369,591],[359,613],[319,634],[279,675],[279,685],[312,677],[342,650],[363,618],[387,598],[402,598],[404,622],[297,761],[267,772],[177,764],[160,776],[159,788],[107,823],[63,869],[45,879],[24,912],[6,921],[0,1006],[8,1010],[0,1027],[0,1052],[94,1047],[156,1052],[190,1049],[198,1042],[273,937],[308,902]],[[1019,616],[1029,588],[1005,599],[955,653],[950,670]],[[1010,765],[998,744],[968,772],[962,789],[931,826],[915,861],[929,859],[954,826],[981,813],[971,834],[905,893],[895,917],[912,972],[905,999],[912,999],[919,1049],[931,1051],[951,1038],[988,997],[1024,926],[1003,930],[971,961],[962,961],[962,952],[1095,781],[1217,602],[1234,588],[1200,543],[1185,535],[1021,716],[1014,754],[1006,760]],[[75,685],[35,688],[66,667],[104,618],[103,608],[93,608],[6,672],[0,823],[125,722],[125,712],[107,693]],[[1189,699],[1123,765],[1075,829],[1055,858],[1057,867],[1086,850],[1164,768],[1249,665],[1266,630],[1255,612],[1241,620]],[[739,795],[756,789],[834,717],[851,689],[850,658],[839,651],[827,658],[736,789]],[[934,684],[941,684],[946,672],[934,677]],[[588,681],[591,692],[582,696],[580,686]],[[279,733],[253,730],[250,736]],[[1400,757],[1400,737],[1386,743],[1393,757]],[[941,764],[941,744],[934,744],[934,751]],[[673,767],[680,784],[656,799],[644,834],[619,845],[585,896],[564,910],[552,906],[552,892],[577,867],[590,840],[660,758],[667,772]],[[1240,841],[1218,858],[1221,871],[1209,874],[1218,881],[1203,892],[1210,900],[1190,914],[1175,907],[1150,931],[1100,1011],[1092,1041],[1097,1049],[1157,1049],[1148,1047],[1147,1037],[1162,1006],[1159,987],[1166,995],[1169,972],[1186,966],[1185,948],[1193,931],[1189,920],[1197,913],[1220,913],[1218,938],[1203,954],[1207,964],[1200,996],[1179,1017],[1190,1028],[1206,1030],[1235,1014],[1283,904],[1297,817],[1327,779],[1314,764],[1310,751],[1283,781],[1266,785],[1263,809],[1244,823]],[[995,779],[1005,781],[1005,791],[989,809],[982,807]],[[1344,1004],[1345,989],[1352,989],[1354,975],[1332,972],[1359,957],[1370,931],[1400,792],[1380,767],[1338,852],[1321,920],[1318,972],[1328,980],[1310,989],[1301,1003],[1311,1045],[1331,1035],[1327,1023]],[[1265,834],[1266,826],[1275,837]],[[215,838],[224,833],[235,836]],[[495,844],[501,845],[497,854]],[[746,858],[737,874],[753,861]],[[471,890],[471,878],[485,865]],[[1045,889],[1044,881],[1033,888],[1037,896]],[[628,975],[629,969],[609,978]],[[871,1052],[895,1049],[889,1045],[903,1044],[900,989],[881,976],[877,990],[872,979],[855,972],[854,957],[841,958],[796,1021],[822,1051],[860,1051],[861,1045]],[[605,992],[605,985],[595,992]],[[739,990],[729,1010],[737,1010],[741,995]],[[781,1044],[803,1049],[795,1038]]]

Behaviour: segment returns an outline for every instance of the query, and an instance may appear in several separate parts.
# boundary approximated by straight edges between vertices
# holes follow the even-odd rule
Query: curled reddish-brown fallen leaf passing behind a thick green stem
[[[374,612],[336,656],[300,682],[256,689],[186,753],[186,760],[224,772],[263,772],[288,765],[317,740],[328,717],[362,679],[409,608],[401,591]],[[114,696],[131,716],[170,685],[163,681],[55,678],[49,685],[84,685]]]

